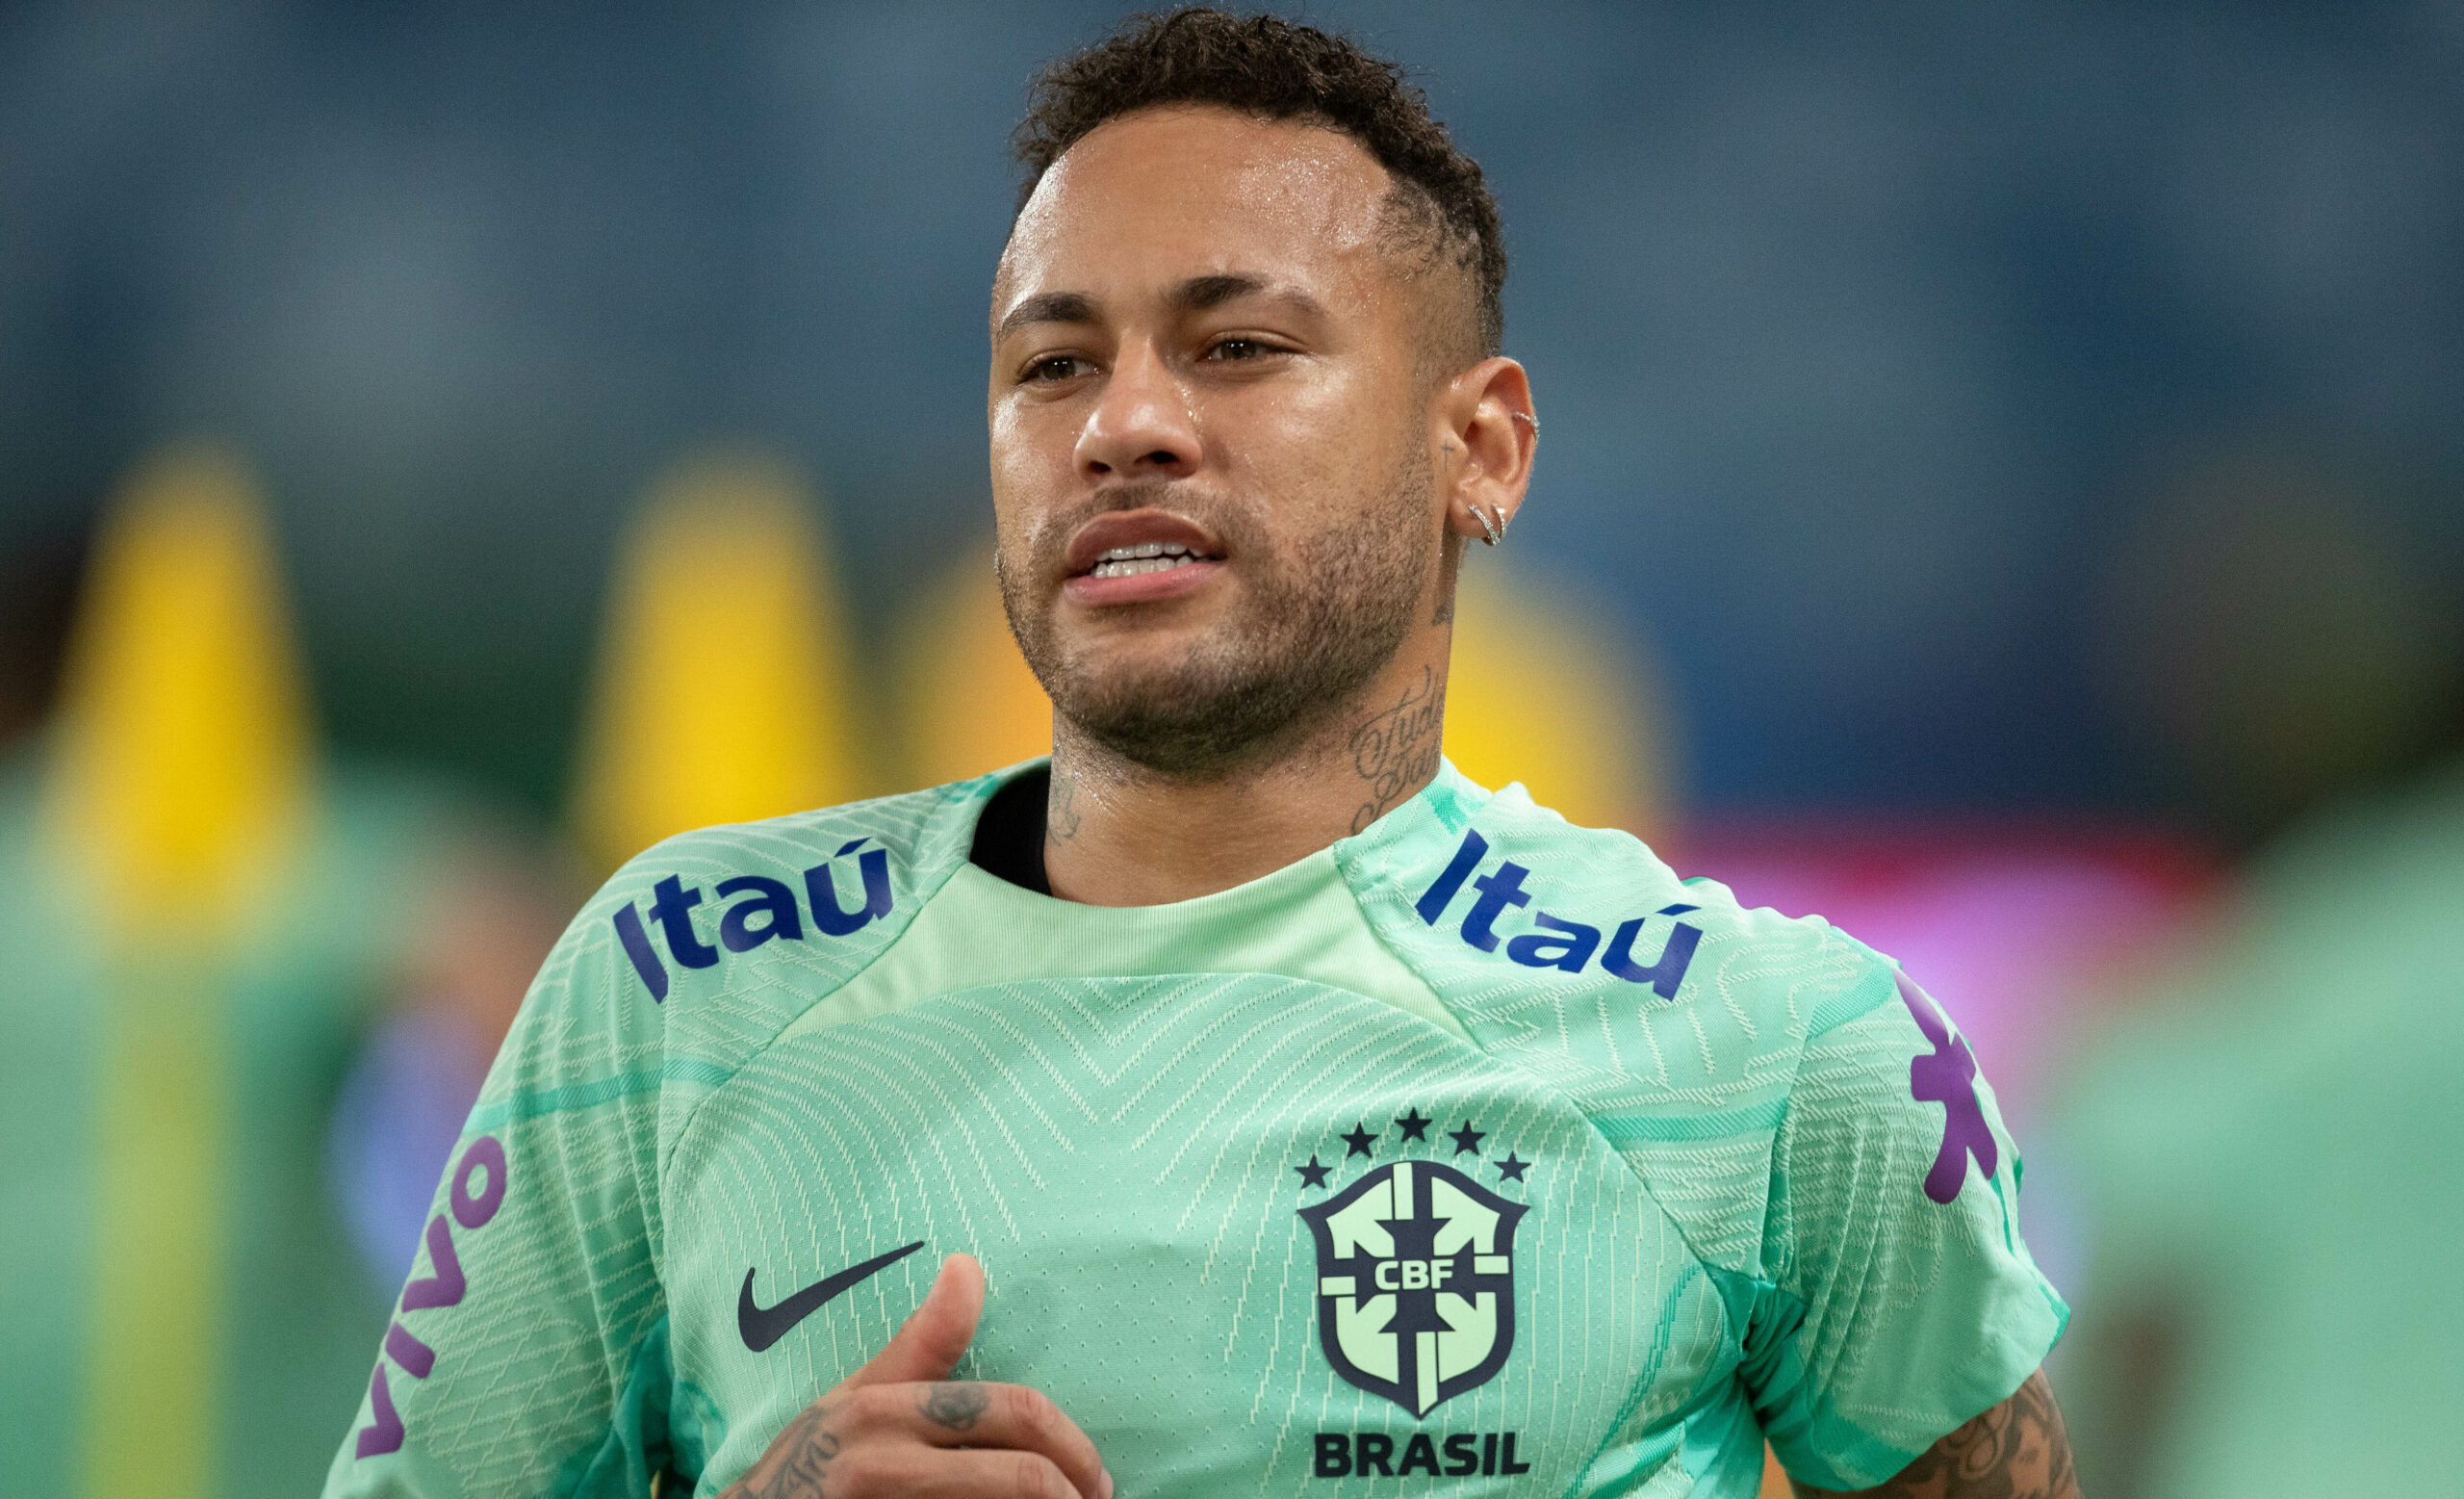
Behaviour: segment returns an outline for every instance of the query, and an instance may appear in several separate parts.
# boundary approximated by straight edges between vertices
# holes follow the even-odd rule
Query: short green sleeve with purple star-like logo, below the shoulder
[[[1799,1482],[1865,1489],[1998,1405],[2070,1319],[2018,1233],[2018,1149],[1949,1016],[1818,1031],[1781,1122],[1745,1378]]]

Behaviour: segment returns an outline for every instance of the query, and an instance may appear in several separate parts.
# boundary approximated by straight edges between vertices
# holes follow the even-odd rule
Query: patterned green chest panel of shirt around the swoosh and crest
[[[668,1193],[673,1213],[710,1225],[673,1270],[707,1287],[707,1304],[675,1307],[675,1356],[732,1413],[715,1482],[880,1349],[934,1257],[865,1282],[845,1314],[766,1354],[737,1336],[744,1267],[764,1289],[796,1287],[909,1240],[986,1265],[971,1371],[1047,1391],[1138,1492],[1225,1492],[1227,1474],[1244,1492],[1306,1492],[1318,1430],[1395,1432],[1402,1450],[1422,1423],[1335,1383],[1318,1354],[1316,1250],[1296,1208],[1328,1188],[1291,1166],[1343,1159],[1345,1129],[1412,1109],[1449,1127],[1473,1117],[1483,1159],[1540,1161],[1498,1183],[1530,1206],[1513,1358],[1530,1376],[1449,1400],[1429,1430],[1515,1430],[1528,1482],[1550,1492],[1594,1460],[1631,1467],[1626,1447],[1705,1378],[1722,1309],[1582,1114],[1392,1006],[1202,974],[978,989],[798,1035],[700,1112]],[[1385,1134],[1400,1159],[1478,1166],[1434,1129],[1419,1144]],[[1353,1159],[1328,1186],[1370,1166]],[[1631,1430],[1602,1452],[1634,1395]]]

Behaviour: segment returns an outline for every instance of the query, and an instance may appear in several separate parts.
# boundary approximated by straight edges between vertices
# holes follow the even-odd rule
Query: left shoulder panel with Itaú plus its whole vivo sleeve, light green
[[[389,1331],[328,1492],[648,1492],[653,1467],[675,1452],[623,1403],[628,1391],[638,1395],[646,1344],[668,1314],[658,1191],[665,1142],[747,1055],[897,939],[926,895],[917,870],[939,880],[954,856],[963,858],[963,819],[936,826],[936,814],[983,789],[988,782],[702,828],[633,858],[591,897],[525,996],[466,1129],[463,1154],[478,1139],[503,1146],[505,1201],[468,1228],[456,1220],[448,1174],[397,1302],[394,1329],[434,1351],[434,1371],[409,1368]],[[890,917],[845,937],[771,942],[761,964],[668,962],[665,1001],[648,999],[616,912],[650,920],[646,907],[663,878],[712,888],[752,873],[793,888],[857,836],[894,853]],[[838,863],[860,885],[860,858]],[[712,925],[702,922],[705,934]],[[456,1275],[421,1297],[421,1282],[439,1275],[439,1235]],[[663,1373],[648,1371],[653,1381]]]

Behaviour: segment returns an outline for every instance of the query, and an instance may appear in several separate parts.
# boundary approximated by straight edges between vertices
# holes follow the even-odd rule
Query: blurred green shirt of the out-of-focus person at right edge
[[[2464,1391],[2464,764],[2289,836],[2067,1107],[2107,1499],[2444,1494]]]

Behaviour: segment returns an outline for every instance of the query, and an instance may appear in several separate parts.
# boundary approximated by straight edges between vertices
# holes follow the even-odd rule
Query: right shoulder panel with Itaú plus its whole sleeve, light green
[[[1456,856],[1478,846],[1471,870],[1488,875],[1434,902],[1451,868],[1434,838]],[[2067,1307],[2018,1238],[2018,1151],[1981,1077],[1998,1171],[1961,1159],[1951,1201],[1924,1193],[1949,1109],[1915,1097],[1912,1063],[1932,1048],[1912,1006],[1939,1008],[1887,959],[1821,920],[1678,880],[1631,836],[1570,826],[1520,786],[1488,796],[1441,777],[1338,858],[1473,1038],[1565,1090],[1651,1186],[1722,1285],[1740,1388],[1799,1479],[1887,1479],[2016,1391],[2060,1336]],[[1481,932],[1478,880],[1508,863],[1528,905]],[[1513,934],[1542,912],[1597,932],[1599,959],[1515,962]],[[1609,971],[1626,922],[1629,971],[1688,952],[1676,999]],[[1740,1462],[1720,1457],[1722,1472]]]

